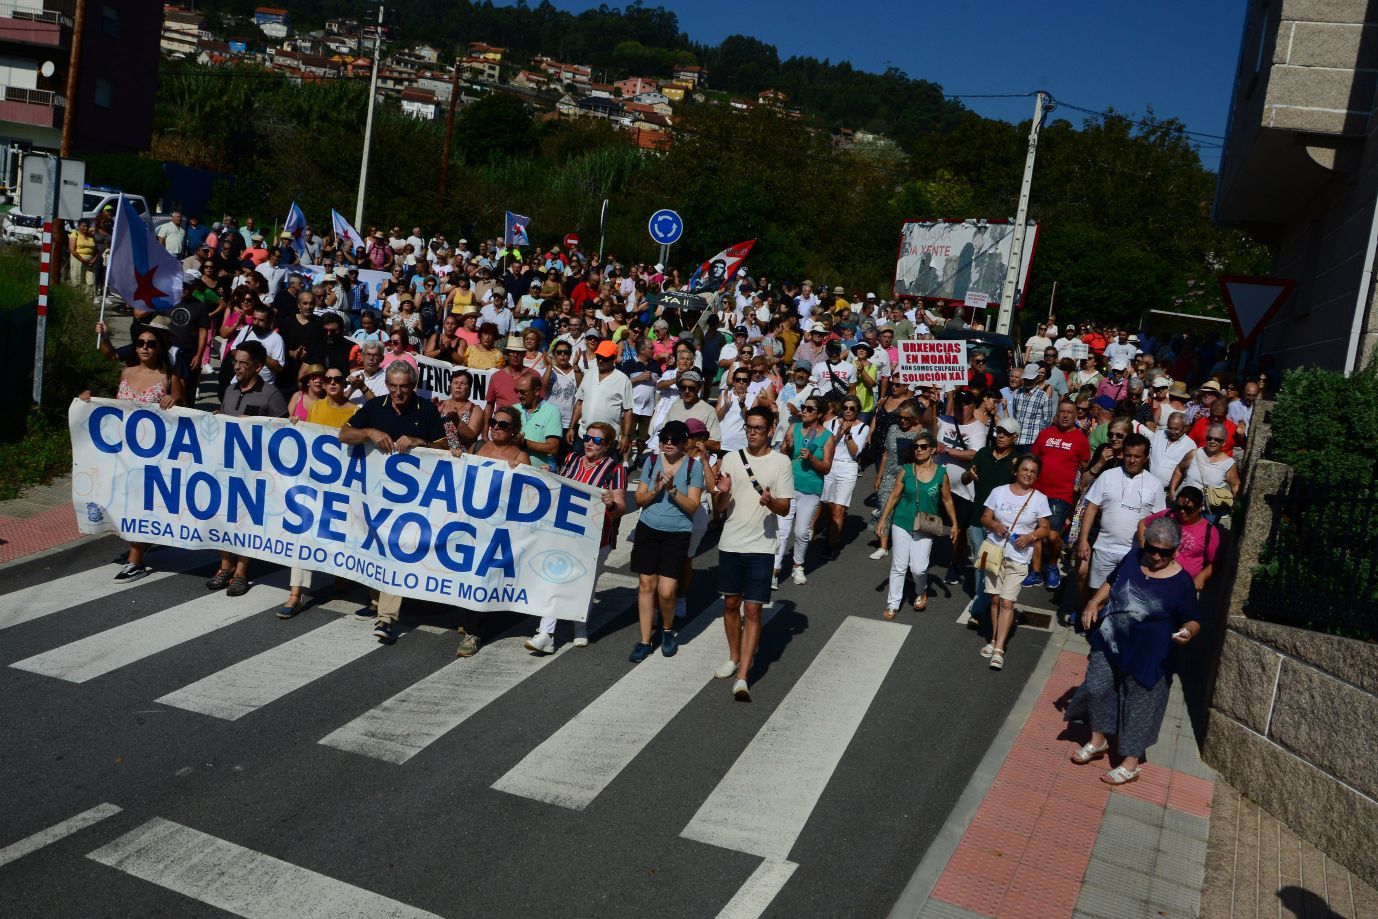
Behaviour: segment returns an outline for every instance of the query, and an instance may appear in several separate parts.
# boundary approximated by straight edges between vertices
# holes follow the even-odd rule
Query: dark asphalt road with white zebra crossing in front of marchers
[[[863,514],[858,495],[854,530]],[[208,554],[181,550],[150,555],[176,573],[107,592],[114,539],[0,570],[0,904],[883,916],[1049,635],[1020,630],[992,672],[956,623],[966,597],[937,579],[926,613],[883,621],[889,559],[868,551],[854,537],[776,594],[751,704],[711,675],[712,550],[679,656],[639,667],[624,554],[590,648],[533,659],[533,621],[492,616],[457,663],[438,606],[408,601],[390,648],[343,615],[361,592],[277,620],[269,565],[237,602],[207,594]]]

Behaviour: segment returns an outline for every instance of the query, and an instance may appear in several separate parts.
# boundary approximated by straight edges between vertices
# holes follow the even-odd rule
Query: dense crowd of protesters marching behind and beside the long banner
[[[451,242],[420,227],[368,227],[354,247],[309,229],[302,245],[265,240],[252,220],[175,215],[168,226],[160,238],[183,259],[185,309],[175,321],[136,313],[125,351],[98,329],[102,350],[127,364],[119,398],[193,405],[204,375],[227,415],[328,424],[346,444],[435,446],[598,488],[599,569],[620,518],[639,511],[635,663],[657,646],[677,653],[693,558],[717,528],[732,657],[715,675],[733,678],[739,699],[750,697],[763,605],[783,576],[802,587],[838,557],[854,533],[849,514],[871,518],[870,558],[889,555],[883,617],[900,617],[907,597],[925,610],[929,570],[945,565],[948,584],[971,586],[992,670],[1010,653],[1021,591],[1071,579],[1108,668],[1089,678],[1100,694],[1084,708],[1101,740],[1079,751],[1086,762],[1105,733],[1127,730],[1134,743],[1152,733],[1144,725],[1166,696],[1135,697],[1148,721],[1124,727],[1107,721],[1122,710],[1105,693],[1120,685],[1122,649],[1138,641],[1142,616],[1174,623],[1171,641],[1191,639],[1184,623],[1214,570],[1215,524],[1239,495],[1254,404],[1276,386],[1266,369],[1233,373],[1209,336],[1156,340],[1051,317],[1011,349],[976,338],[965,386],[909,386],[898,382],[901,342],[981,322],[960,307],[745,271],[701,313],[681,313],[660,295],[688,278],[577,245]],[[77,242],[73,270],[84,273],[99,245]],[[386,280],[365,284],[361,270]],[[419,358],[457,368],[449,393],[418,397]],[[131,544],[117,579],[149,572],[143,548]],[[226,554],[207,587],[243,594],[247,568]],[[1156,612],[1134,609],[1152,590],[1116,592],[1144,579],[1171,581]],[[310,586],[310,572],[294,570],[278,615],[300,612]],[[400,606],[379,594],[361,610],[379,641],[394,639]],[[460,654],[478,650],[480,631],[470,617]],[[555,619],[542,620],[526,646],[551,653],[555,631]],[[587,645],[583,624],[573,641]],[[1166,660],[1159,645],[1152,653]],[[1131,781],[1135,769],[1109,780]]]

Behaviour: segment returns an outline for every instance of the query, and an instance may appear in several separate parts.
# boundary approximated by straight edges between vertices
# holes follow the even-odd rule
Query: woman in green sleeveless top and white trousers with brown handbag
[[[885,619],[894,619],[904,599],[904,579],[914,575],[914,610],[922,613],[929,608],[929,561],[933,557],[933,536],[918,528],[921,514],[937,515],[945,513],[951,526],[949,539],[956,544],[956,507],[952,504],[952,485],[947,467],[936,460],[937,438],[927,431],[919,431],[914,438],[914,462],[900,467],[894,488],[881,511],[881,528],[890,521],[890,584],[886,595]]]

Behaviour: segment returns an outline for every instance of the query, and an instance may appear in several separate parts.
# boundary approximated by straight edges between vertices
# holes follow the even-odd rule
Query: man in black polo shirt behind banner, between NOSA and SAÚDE
[[[340,442],[347,445],[372,444],[383,453],[408,453],[418,446],[429,446],[445,440],[440,411],[429,401],[416,398],[416,368],[407,361],[387,365],[387,395],[364,402],[340,428]],[[402,598],[379,592],[378,621],[373,637],[391,645],[397,637],[397,616]],[[361,619],[372,619],[372,610],[360,610]]]

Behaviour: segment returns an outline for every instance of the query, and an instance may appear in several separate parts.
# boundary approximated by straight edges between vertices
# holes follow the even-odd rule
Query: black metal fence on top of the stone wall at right
[[[1378,641],[1378,482],[1294,478],[1275,500],[1244,613]]]

